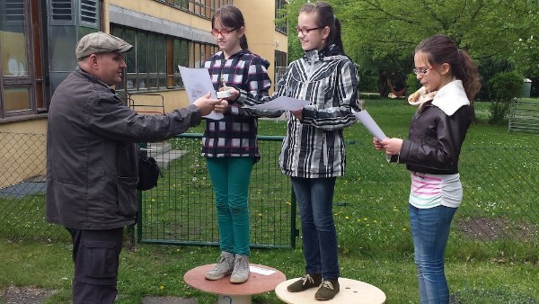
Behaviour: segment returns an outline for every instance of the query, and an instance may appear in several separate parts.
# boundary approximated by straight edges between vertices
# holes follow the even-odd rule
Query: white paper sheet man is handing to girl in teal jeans
[[[199,97],[208,94],[208,92],[211,94],[210,98],[217,99],[216,90],[209,78],[208,68],[190,68],[181,66],[178,66],[178,68],[180,69],[181,80],[185,86],[185,92],[187,92],[190,103],[194,103]],[[204,117],[214,121],[219,121],[224,118],[223,114],[216,112],[211,112]]]

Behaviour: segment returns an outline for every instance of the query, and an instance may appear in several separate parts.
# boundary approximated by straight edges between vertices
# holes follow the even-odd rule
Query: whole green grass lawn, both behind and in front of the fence
[[[539,136],[508,133],[507,125],[486,124],[489,106],[475,103],[478,122],[464,142],[464,202],[455,216],[447,247],[446,276],[451,293],[462,303],[539,303]],[[387,136],[407,137],[414,107],[403,100],[376,99],[367,100],[365,108]],[[202,126],[190,130],[202,131]],[[282,136],[285,132],[286,121],[260,122],[261,135]],[[345,130],[345,139],[347,174],[338,180],[334,207],[341,276],[376,285],[385,292],[386,303],[417,303],[406,212],[409,173],[404,165],[387,164],[384,156],[374,151],[372,136],[363,126],[356,124]],[[162,182],[168,184],[166,189],[144,194],[147,203],[141,212],[145,225],[153,229],[150,237],[217,239],[211,198],[208,202],[211,185],[205,177],[205,165],[199,163],[197,140],[183,147],[194,153],[172,165],[188,174],[165,171]],[[178,144],[186,145],[184,141]],[[285,218],[289,214],[268,207],[286,208],[289,200],[287,184],[274,169],[278,151],[271,151],[256,165],[270,174],[252,177],[256,186],[251,189],[251,200],[266,200],[252,205],[252,235],[261,242],[286,243],[287,235],[274,235],[276,227],[287,225],[279,222],[278,214],[284,212]],[[276,188],[270,186],[274,183],[278,183]],[[0,261],[4,262],[0,264],[4,273],[0,289],[8,285],[50,288],[57,294],[48,303],[68,303],[73,275],[71,246],[65,230],[42,223],[43,202],[42,197],[30,202],[0,199],[0,215],[4,210],[9,212],[0,228]],[[4,208],[7,205],[9,209]],[[473,221],[476,219],[482,221]],[[185,230],[182,225],[187,227],[188,223],[198,228]],[[37,238],[40,241],[30,240]],[[215,263],[217,255],[212,246],[138,244],[126,249],[121,254],[119,303],[139,303],[147,295],[214,303],[215,296],[186,286],[182,276],[200,264]],[[301,246],[295,250],[253,249],[251,262],[277,268],[287,278],[304,272]],[[255,296],[253,302],[280,303],[271,292]]]

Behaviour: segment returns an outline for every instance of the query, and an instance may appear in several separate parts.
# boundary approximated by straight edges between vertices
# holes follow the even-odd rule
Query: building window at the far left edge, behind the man
[[[47,110],[39,0],[0,0],[0,121]]]

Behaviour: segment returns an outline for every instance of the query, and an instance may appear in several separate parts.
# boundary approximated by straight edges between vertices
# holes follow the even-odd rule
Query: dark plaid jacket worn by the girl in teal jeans
[[[266,70],[270,62],[249,50],[243,49],[228,59],[222,51],[217,52],[204,63],[216,90],[226,86],[249,92],[255,98],[268,95],[271,86]],[[252,112],[244,111],[237,104],[230,104],[225,119],[206,120],[206,130],[202,139],[202,156],[253,156],[260,159],[256,139],[258,121]]]

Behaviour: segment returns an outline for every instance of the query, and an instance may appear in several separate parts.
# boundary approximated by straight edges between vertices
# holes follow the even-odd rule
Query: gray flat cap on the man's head
[[[109,33],[97,31],[85,35],[76,43],[75,56],[82,60],[92,54],[125,53],[133,48],[128,42]]]

